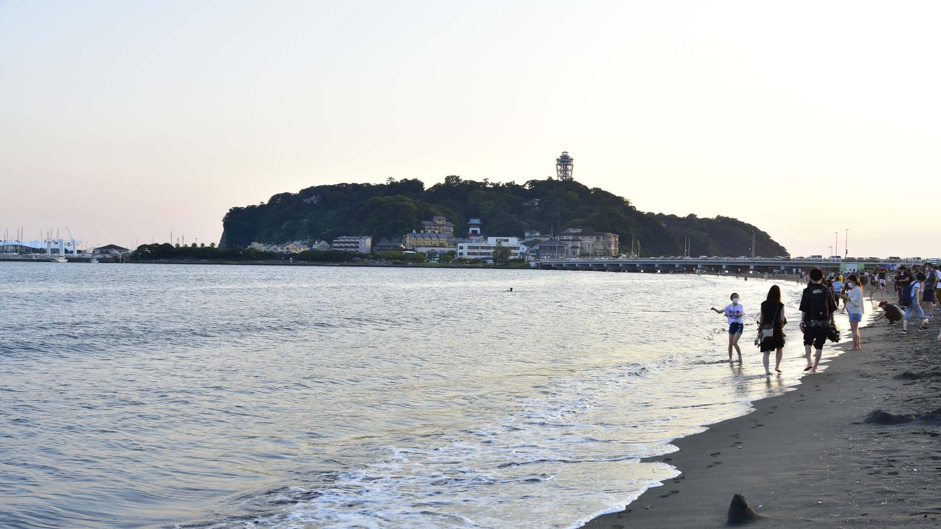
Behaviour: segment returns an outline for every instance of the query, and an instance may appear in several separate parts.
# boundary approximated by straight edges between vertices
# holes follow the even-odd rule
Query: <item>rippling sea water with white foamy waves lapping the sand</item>
[[[578,526],[796,382],[708,311],[770,284],[0,263],[0,526]]]

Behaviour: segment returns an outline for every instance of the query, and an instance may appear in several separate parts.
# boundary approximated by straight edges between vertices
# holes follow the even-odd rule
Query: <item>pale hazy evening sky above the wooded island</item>
[[[0,230],[218,242],[316,184],[554,172],[941,257],[941,3],[0,0]],[[846,232],[849,230],[849,232]],[[832,251],[837,251],[833,249]]]

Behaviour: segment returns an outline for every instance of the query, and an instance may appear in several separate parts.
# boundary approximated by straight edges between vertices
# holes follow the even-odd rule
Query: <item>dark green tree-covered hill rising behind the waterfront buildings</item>
[[[525,205],[534,199],[538,205]],[[686,235],[694,256],[750,255],[755,232],[756,255],[788,255],[768,233],[727,216],[644,213],[630,200],[574,181],[491,184],[459,176],[428,188],[416,179],[390,179],[386,184],[315,185],[298,193],[279,193],[258,205],[231,208],[222,220],[220,246],[332,240],[341,235],[372,235],[374,242],[401,241],[404,233],[421,230],[422,220],[432,216],[448,217],[458,234],[467,232],[471,217],[483,220],[488,235],[594,228],[618,233],[622,252],[630,251],[631,238],[639,240],[644,256],[682,255]]]

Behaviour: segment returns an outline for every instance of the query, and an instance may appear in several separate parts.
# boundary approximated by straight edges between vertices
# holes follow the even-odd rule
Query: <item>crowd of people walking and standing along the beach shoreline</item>
[[[793,270],[798,281],[805,279],[805,272],[801,269]],[[917,330],[928,329],[929,322],[934,317],[934,303],[941,298],[941,270],[934,264],[913,266],[910,270],[901,265],[895,276],[887,279],[889,271],[885,268],[873,271],[862,270],[857,272],[835,272],[829,275],[820,268],[813,268],[807,274],[807,286],[801,297],[801,323],[800,328],[804,334],[805,371],[817,372],[823,353],[823,344],[827,340],[839,341],[839,331],[834,321],[834,315],[839,312],[849,314],[850,335],[853,339],[851,351],[861,348],[859,324],[866,313],[866,289],[869,288],[869,303],[875,305],[874,294],[878,291],[881,299],[878,306],[882,312],[877,314],[873,321],[885,319],[889,326],[898,325],[901,321],[901,333],[909,333],[909,323],[917,323]],[[767,278],[765,278],[767,280]],[[885,284],[892,281],[898,297],[898,303],[891,303],[886,299]],[[715,313],[726,316],[728,321],[728,361],[733,362],[733,351],[738,354],[738,361],[742,363],[742,348],[739,340],[742,338],[745,325],[745,312],[741,299],[737,293],[730,296],[731,303],[722,310],[712,307]],[[842,304],[842,308],[840,305]],[[763,355],[765,376],[772,376],[770,357],[775,353],[774,371],[781,373],[781,358],[785,342],[784,327],[788,324],[784,304],[781,302],[781,289],[773,285],[768,290],[768,297],[761,302],[758,317],[758,336],[755,345],[760,347]],[[941,333],[938,334],[941,342]]]

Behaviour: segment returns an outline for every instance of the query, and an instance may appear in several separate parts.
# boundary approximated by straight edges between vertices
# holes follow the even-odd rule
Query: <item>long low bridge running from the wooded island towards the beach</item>
[[[730,274],[754,271],[758,273],[782,270],[790,272],[794,268],[809,270],[813,267],[824,271],[862,270],[877,266],[894,268],[899,264],[922,264],[923,261],[907,259],[867,259],[853,258],[797,258],[789,257],[579,257],[566,259],[543,259],[530,263],[534,268],[544,270],[595,270],[601,272],[652,272],[669,273],[676,271],[706,272],[727,271]]]

